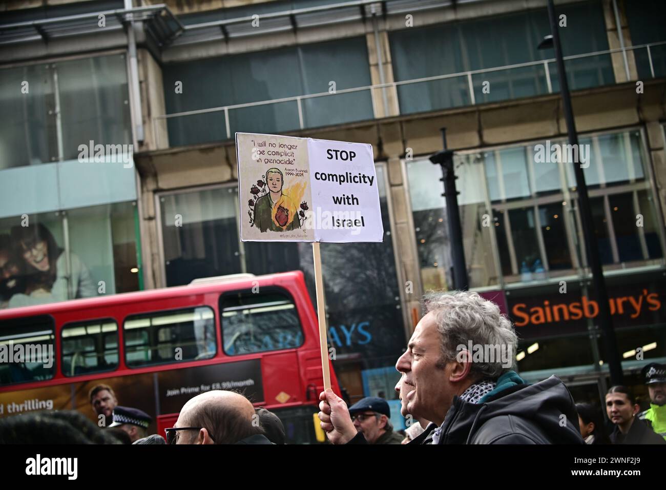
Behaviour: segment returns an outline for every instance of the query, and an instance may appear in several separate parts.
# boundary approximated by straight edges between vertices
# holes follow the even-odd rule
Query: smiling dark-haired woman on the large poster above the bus
[[[11,243],[15,257],[23,259],[25,294],[13,295],[10,307],[97,295],[90,271],[74,253],[69,254],[68,273],[67,254],[42,223],[13,227]]]

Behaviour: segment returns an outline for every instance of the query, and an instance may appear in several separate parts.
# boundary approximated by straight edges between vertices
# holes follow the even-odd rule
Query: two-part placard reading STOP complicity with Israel
[[[242,241],[383,241],[372,145],[236,133]]]

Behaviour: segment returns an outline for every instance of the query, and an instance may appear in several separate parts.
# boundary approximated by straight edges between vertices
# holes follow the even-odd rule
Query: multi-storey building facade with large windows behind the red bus
[[[0,235],[16,249],[21,220],[43,223],[67,257],[68,297],[83,295],[83,264],[90,294],[300,269],[314,299],[309,244],[239,239],[234,133],[371,143],[384,242],[322,244],[322,266],[340,383],[352,399],[392,398],[422,294],[455,286],[428,161],[446,127],[470,287],[515,322],[519,371],[557,374],[577,399],[605,392],[573,164],[554,150],[566,143],[554,54],[537,49],[545,1],[29,3],[6,3],[0,29]],[[618,349],[637,382],[666,359],[666,10],[556,8]],[[95,145],[133,151],[95,163]],[[39,293],[5,306],[57,300]]]

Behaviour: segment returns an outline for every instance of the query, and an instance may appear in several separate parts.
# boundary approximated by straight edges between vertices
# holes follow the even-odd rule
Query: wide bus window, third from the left
[[[215,315],[209,307],[133,315],[123,332],[129,367],[210,359],[217,351]]]

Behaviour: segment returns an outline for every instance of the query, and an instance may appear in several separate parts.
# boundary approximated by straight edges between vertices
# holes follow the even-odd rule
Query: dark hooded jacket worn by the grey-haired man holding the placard
[[[571,394],[551,376],[535,385],[515,385],[484,403],[454,397],[440,444],[583,444]]]

